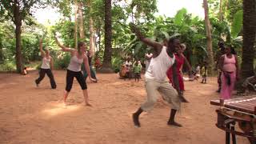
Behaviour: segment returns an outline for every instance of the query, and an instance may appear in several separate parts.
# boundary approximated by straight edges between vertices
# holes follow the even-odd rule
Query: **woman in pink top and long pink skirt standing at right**
[[[234,90],[234,83],[238,79],[238,58],[231,53],[231,47],[225,49],[226,54],[220,58],[219,69],[222,70],[222,89],[221,98],[231,98],[232,90]],[[232,50],[234,51],[234,50]]]

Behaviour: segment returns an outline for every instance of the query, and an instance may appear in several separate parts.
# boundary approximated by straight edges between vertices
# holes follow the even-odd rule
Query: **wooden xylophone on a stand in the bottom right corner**
[[[226,144],[230,144],[230,134],[235,144],[235,135],[241,135],[249,139],[250,143],[256,144],[256,95],[219,99],[210,101],[211,105],[220,106],[216,110],[218,114],[216,126],[226,131]],[[234,130],[238,123],[241,130]]]

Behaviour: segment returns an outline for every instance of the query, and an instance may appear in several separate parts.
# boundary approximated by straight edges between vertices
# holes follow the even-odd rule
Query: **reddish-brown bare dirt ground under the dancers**
[[[143,80],[118,79],[118,74],[98,74],[98,83],[87,82],[90,103],[83,106],[82,91],[74,80],[63,108],[66,71],[54,71],[57,89],[50,89],[49,78],[39,87],[34,84],[38,72],[26,76],[0,74],[0,143],[1,144],[89,144],[89,143],[168,143],[221,144],[225,133],[215,126],[218,99],[216,78],[207,84],[185,82],[186,98],[176,120],[183,127],[167,126],[170,107],[159,98],[154,110],[143,113],[141,128],[135,128],[131,114],[146,99]],[[249,143],[238,137],[238,144]]]

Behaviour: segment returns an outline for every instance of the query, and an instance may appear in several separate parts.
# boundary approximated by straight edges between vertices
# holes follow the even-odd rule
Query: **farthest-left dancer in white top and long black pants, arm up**
[[[50,51],[46,49],[46,52],[42,50],[42,39],[39,42],[39,49],[42,56],[42,66],[39,72],[39,78],[35,80],[36,85],[38,86],[39,83],[45,78],[45,75],[50,78],[50,86],[52,89],[56,89],[56,82],[54,81],[54,74],[52,70],[54,70],[54,59],[50,56]]]

